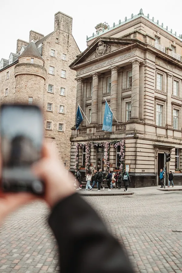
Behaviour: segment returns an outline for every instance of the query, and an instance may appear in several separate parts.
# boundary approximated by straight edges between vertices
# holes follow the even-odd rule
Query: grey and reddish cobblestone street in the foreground
[[[125,245],[136,272],[182,272],[182,191],[144,188],[134,192],[83,198]],[[58,272],[48,214],[44,204],[34,203],[6,219],[0,229],[1,273]]]

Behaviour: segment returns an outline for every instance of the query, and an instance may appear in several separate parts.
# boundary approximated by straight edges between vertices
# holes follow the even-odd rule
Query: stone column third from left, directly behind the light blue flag
[[[113,66],[111,69],[111,96],[110,96],[110,107],[113,111],[114,116],[117,114],[117,79],[118,79],[118,67]],[[113,120],[115,118],[113,117]]]

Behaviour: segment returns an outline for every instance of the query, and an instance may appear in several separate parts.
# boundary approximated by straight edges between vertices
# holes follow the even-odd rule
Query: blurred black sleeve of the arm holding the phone
[[[60,201],[49,217],[61,273],[133,273],[119,242],[79,194]]]

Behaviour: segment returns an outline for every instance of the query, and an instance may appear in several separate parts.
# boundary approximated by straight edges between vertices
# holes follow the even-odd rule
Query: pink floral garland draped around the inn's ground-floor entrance
[[[79,169],[79,146],[80,147],[85,147],[85,151],[86,151],[86,166],[85,166],[85,170],[86,170],[86,174],[89,170],[90,167],[90,153],[91,153],[91,147],[96,146],[96,147],[105,147],[105,158],[106,158],[106,172],[109,171],[110,169],[110,146],[114,145],[115,148],[117,148],[117,146],[120,146],[120,170],[122,172],[124,172],[125,170],[125,140],[113,140],[113,141],[103,141],[103,142],[87,142],[87,143],[76,143],[76,154],[75,154],[75,170]]]

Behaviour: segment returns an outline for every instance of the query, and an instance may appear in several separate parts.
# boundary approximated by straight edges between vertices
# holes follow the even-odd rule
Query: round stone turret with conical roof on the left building
[[[15,103],[36,103],[43,106],[46,69],[34,42],[30,42],[15,66]]]

